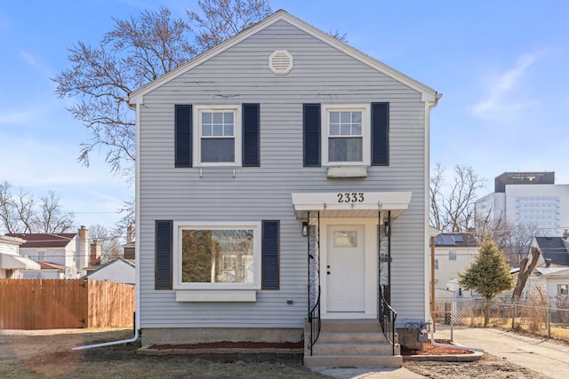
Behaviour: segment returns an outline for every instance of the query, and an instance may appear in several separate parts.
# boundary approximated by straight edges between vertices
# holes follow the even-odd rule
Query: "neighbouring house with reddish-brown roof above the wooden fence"
[[[89,232],[84,226],[77,233],[7,233],[26,242],[20,253],[36,262],[66,267],[65,278],[77,277],[77,272],[89,265]]]

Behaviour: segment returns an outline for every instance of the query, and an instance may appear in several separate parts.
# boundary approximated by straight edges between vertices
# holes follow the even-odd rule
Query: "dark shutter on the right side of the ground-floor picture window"
[[[263,220],[261,289],[278,289],[278,220]]]

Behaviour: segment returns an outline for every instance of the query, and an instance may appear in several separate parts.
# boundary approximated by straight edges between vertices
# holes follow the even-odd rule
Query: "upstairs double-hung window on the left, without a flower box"
[[[241,162],[241,111],[238,106],[196,106],[194,160],[199,166],[237,166]]]

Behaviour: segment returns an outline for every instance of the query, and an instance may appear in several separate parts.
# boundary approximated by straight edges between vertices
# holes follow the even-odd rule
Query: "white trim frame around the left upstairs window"
[[[202,113],[204,112],[233,112],[233,132],[235,134],[235,162],[202,162]],[[192,112],[193,125],[193,162],[196,167],[240,167],[242,159],[242,132],[241,132],[241,106],[240,105],[195,105]]]

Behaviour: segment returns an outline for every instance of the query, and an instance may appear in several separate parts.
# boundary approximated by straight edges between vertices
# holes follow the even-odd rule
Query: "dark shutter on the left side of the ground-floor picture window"
[[[156,289],[172,289],[172,221],[156,221]]]

